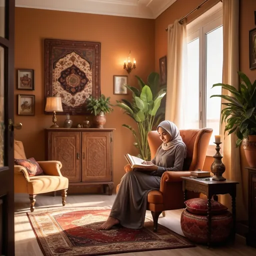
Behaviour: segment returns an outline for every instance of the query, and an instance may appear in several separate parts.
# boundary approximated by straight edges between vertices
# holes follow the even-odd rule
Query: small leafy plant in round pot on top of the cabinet
[[[103,94],[99,98],[90,95],[86,99],[86,109],[94,115],[92,120],[96,128],[103,128],[106,122],[105,114],[113,110],[109,99],[110,97],[106,98]]]

